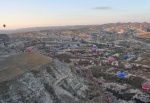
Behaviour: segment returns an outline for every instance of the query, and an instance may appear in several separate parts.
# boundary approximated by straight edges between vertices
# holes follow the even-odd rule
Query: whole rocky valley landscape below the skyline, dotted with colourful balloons
[[[149,103],[149,53],[146,22],[3,31],[0,103]]]

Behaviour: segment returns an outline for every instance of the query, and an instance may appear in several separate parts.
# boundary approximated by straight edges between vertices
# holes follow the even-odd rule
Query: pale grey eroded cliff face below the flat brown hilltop
[[[57,60],[0,82],[0,103],[79,103],[88,87]]]

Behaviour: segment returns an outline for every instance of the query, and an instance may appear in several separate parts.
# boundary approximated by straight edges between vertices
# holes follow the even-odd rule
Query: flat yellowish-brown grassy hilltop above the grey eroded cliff
[[[12,78],[24,71],[38,69],[49,62],[50,58],[36,52],[10,56],[0,62],[0,80]]]

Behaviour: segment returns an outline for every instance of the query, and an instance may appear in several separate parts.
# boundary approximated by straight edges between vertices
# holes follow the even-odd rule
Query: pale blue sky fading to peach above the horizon
[[[150,0],[0,0],[1,30],[115,22],[150,22]]]

